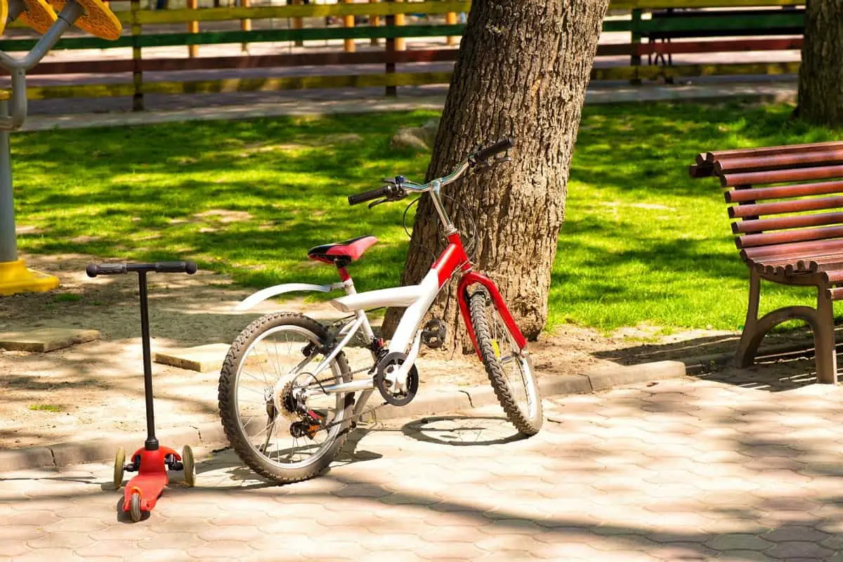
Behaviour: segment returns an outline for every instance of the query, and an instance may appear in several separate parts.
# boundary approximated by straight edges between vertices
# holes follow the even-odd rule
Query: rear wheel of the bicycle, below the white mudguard
[[[228,441],[257,474],[287,484],[313,478],[336,457],[352,419],[353,393],[320,389],[352,380],[339,353],[324,372],[325,327],[301,314],[258,318],[234,340],[219,378]]]

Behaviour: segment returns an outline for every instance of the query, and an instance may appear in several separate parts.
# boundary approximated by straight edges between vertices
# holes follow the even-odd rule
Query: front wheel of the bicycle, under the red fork
[[[486,374],[507,420],[525,436],[535,435],[541,428],[542,412],[532,361],[521,355],[486,291],[471,295],[469,311]]]

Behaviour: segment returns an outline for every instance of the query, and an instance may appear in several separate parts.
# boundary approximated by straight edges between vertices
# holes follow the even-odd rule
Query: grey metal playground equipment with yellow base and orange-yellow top
[[[15,240],[8,137],[10,131],[18,130],[26,120],[26,72],[46,56],[71,25],[110,40],[117,39],[122,29],[114,13],[100,0],[52,0],[52,3],[61,10],[57,16],[44,0],[0,0],[0,33],[7,22],[20,19],[43,34],[21,59],[0,51],[0,67],[12,75],[11,92],[0,92],[0,295],[50,291],[58,286],[56,277],[26,267],[24,260],[18,258]]]

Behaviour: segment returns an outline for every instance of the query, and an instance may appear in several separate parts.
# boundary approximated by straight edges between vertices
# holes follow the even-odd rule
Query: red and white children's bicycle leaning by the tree
[[[443,187],[467,171],[508,161],[498,155],[512,146],[504,139],[482,148],[451,174],[426,184],[397,176],[384,180],[380,189],[348,197],[350,205],[373,201],[371,208],[411,194],[430,194],[448,245],[418,285],[355,291],[346,268],[378,241],[363,236],[309,250],[311,260],[336,266],[340,282],[272,286],[239,304],[238,309],[247,310],[285,292],[342,290],[346,295],[330,302],[350,313],[332,326],[298,313],[269,314],[247,326],[231,345],[220,372],[219,410],[229,442],[256,473],[279,483],[312,478],[336,457],[375,391],[384,399],[382,405],[409,404],[419,385],[415,362],[421,343],[439,347],[447,335],[438,319],[423,326],[422,321],[454,275],[460,276],[460,312],[507,419],[525,436],[538,433],[541,398],[527,342],[495,283],[472,270],[441,195]],[[366,315],[384,307],[405,308],[389,345],[375,337]],[[352,372],[343,350],[355,336],[362,337],[372,364]],[[354,377],[361,373],[366,375]]]

